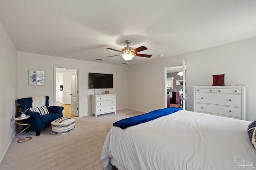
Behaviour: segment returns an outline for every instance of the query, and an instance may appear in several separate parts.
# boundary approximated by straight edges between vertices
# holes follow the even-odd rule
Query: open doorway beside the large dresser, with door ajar
[[[165,107],[182,107],[186,110],[186,75],[187,63],[164,67],[164,105]]]

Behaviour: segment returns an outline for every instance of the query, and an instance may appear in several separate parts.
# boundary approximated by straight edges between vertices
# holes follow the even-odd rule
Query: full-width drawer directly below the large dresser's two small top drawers
[[[242,97],[239,94],[196,93],[195,102],[241,107]]]

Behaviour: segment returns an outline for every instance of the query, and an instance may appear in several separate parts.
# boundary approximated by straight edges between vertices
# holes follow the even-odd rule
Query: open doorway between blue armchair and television
[[[54,103],[64,107],[64,117],[78,115],[78,69],[54,67],[55,89]]]

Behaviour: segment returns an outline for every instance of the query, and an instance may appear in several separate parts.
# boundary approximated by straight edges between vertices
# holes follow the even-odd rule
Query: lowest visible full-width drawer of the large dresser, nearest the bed
[[[242,109],[238,107],[216,106],[210,104],[196,104],[196,111],[217,113],[228,116],[242,116]]]

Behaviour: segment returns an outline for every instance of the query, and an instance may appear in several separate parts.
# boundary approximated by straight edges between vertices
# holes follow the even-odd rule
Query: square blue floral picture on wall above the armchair
[[[28,70],[28,85],[44,85],[44,71]]]

